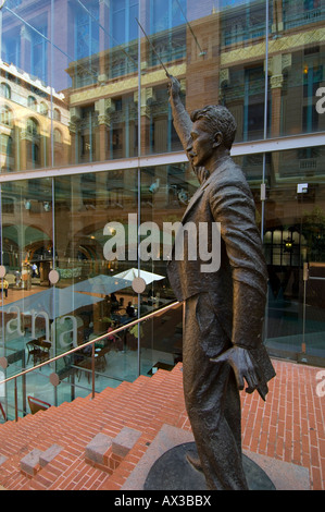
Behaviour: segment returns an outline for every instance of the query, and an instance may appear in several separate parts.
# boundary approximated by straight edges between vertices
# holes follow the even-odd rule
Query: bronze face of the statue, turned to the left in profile
[[[207,127],[207,121],[199,119],[192,125],[191,144],[187,148],[188,156],[195,167],[207,167],[215,151],[214,139]],[[209,169],[209,167],[207,167]]]

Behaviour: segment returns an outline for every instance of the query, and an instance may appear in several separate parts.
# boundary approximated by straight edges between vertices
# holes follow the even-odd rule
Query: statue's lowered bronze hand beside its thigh
[[[238,389],[242,390],[245,380],[247,381],[247,393],[252,393],[262,383],[260,368],[248,349],[234,345],[220,356],[211,358],[211,361],[213,363],[228,363],[234,369]]]

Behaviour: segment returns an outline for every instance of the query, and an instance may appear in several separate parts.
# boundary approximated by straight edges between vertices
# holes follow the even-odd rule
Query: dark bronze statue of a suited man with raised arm
[[[200,258],[171,256],[167,272],[185,301],[184,394],[199,461],[209,489],[247,489],[242,468],[240,395],[258,390],[265,400],[275,376],[262,342],[267,271],[255,207],[241,169],[230,158],[236,122],[223,106],[186,112],[179,83],[170,77],[176,132],[201,183],[183,224],[220,222],[220,268],[202,272]],[[209,240],[209,239],[208,239]],[[210,248],[211,248],[211,240]],[[189,244],[189,245],[187,245]],[[200,254],[199,246],[197,254]]]

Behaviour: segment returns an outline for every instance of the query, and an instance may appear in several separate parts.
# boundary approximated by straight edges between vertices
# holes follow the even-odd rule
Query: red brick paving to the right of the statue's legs
[[[273,363],[277,375],[270,382],[265,402],[258,393],[241,393],[242,448],[308,467],[311,488],[324,490],[325,370]],[[322,389],[324,395],[320,397]]]

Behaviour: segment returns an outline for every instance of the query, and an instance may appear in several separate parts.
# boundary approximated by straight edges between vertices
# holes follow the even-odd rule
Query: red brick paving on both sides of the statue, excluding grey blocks
[[[285,361],[274,361],[277,373],[266,402],[254,393],[241,393],[242,446],[250,452],[304,466],[312,490],[324,490],[325,397],[320,377],[325,370]],[[102,391],[95,400],[76,399],[17,423],[0,426],[0,486],[14,490],[114,490],[136,467],[163,425],[184,430],[190,425],[185,412],[182,365],[153,377],[139,377],[116,389]],[[318,387],[317,387],[318,385]],[[102,471],[85,460],[85,448],[102,432],[116,436],[124,427],[141,431],[134,448],[117,467]],[[34,449],[53,443],[63,451],[35,476],[21,472],[20,461]]]

